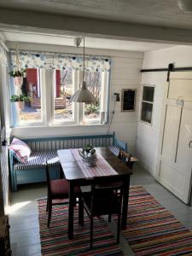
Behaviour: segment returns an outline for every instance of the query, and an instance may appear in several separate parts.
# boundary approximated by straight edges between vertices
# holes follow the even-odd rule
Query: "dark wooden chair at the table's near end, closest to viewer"
[[[117,176],[95,177],[91,191],[83,193],[84,209],[90,217],[90,247],[93,246],[93,218],[117,214],[117,243],[119,243],[123,183],[115,183]],[[114,191],[119,190],[119,194]]]

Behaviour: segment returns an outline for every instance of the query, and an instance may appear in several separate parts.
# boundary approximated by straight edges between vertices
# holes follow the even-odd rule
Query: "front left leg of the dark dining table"
[[[68,239],[73,239],[74,185],[69,183]]]

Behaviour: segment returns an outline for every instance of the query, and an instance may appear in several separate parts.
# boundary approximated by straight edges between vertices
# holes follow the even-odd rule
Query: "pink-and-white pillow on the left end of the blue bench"
[[[30,154],[32,153],[29,146],[20,141],[18,138],[14,138],[12,143],[9,145],[9,150],[14,153],[15,158],[22,164],[26,164]]]

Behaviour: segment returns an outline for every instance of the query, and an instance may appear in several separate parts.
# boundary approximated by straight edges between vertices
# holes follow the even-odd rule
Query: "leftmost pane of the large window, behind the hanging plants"
[[[33,123],[42,120],[40,72],[37,68],[27,68],[20,93],[30,97],[30,102],[15,102],[19,123]],[[18,91],[16,94],[20,94]]]

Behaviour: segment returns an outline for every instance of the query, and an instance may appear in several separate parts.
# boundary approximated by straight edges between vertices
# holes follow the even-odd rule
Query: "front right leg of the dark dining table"
[[[128,176],[124,180],[123,208],[122,208],[122,218],[121,218],[121,228],[122,228],[122,230],[126,229],[129,192],[130,192],[130,176]]]

